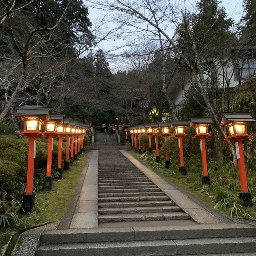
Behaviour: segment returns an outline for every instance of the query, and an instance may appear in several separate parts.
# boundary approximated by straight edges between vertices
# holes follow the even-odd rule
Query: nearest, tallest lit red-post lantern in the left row
[[[50,119],[52,107],[38,106],[16,106],[16,116],[24,122],[24,130],[20,132],[22,136],[29,138],[28,142],[28,169],[26,192],[23,195],[22,210],[25,213],[31,212],[34,207],[35,193],[33,192],[34,181],[34,158],[36,157],[36,138],[45,137],[42,134],[42,124]]]

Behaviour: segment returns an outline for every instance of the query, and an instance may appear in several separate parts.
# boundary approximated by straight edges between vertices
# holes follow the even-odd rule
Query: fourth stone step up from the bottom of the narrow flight
[[[168,196],[121,196],[121,197],[100,197],[98,202],[138,202],[138,201],[164,201],[170,200]]]

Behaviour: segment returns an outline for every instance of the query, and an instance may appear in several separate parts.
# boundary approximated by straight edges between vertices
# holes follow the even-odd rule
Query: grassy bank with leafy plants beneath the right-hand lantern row
[[[142,160],[145,164],[152,166],[158,173],[162,174],[168,180],[178,184],[194,196],[200,198],[205,204],[216,208],[222,214],[232,217],[242,217],[256,219],[256,197],[255,197],[255,172],[248,172],[248,186],[252,192],[254,206],[245,207],[243,202],[238,198],[240,191],[240,182],[238,171],[234,170],[231,162],[218,168],[214,159],[208,160],[208,171],[211,178],[210,185],[202,185],[202,163],[198,155],[190,155],[185,159],[187,175],[183,176],[179,172],[179,158],[175,155],[171,158],[170,169],[165,168],[165,160],[159,163],[155,161],[154,154],[140,155],[137,152],[130,151],[137,159]]]

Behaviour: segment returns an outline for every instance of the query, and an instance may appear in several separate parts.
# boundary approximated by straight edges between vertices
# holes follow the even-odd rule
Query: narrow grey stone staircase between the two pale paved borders
[[[190,219],[118,150],[99,150],[98,188],[99,222]]]

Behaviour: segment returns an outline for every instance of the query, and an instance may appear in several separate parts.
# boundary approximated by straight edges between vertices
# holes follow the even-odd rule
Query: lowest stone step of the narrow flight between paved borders
[[[100,215],[99,222],[121,222],[121,221],[150,221],[150,220],[188,220],[190,217],[184,212],[158,212],[141,214],[115,214]]]

